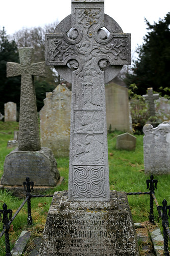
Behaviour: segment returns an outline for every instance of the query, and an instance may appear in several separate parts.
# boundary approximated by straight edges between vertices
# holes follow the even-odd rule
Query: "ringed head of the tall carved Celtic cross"
[[[46,65],[72,83],[72,71],[105,71],[105,83],[131,63],[131,34],[104,14],[104,0],[72,0],[72,14],[46,34]]]

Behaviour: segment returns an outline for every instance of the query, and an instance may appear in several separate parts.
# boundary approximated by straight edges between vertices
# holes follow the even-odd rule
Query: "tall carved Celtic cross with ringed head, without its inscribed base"
[[[104,0],[72,0],[72,14],[45,35],[46,65],[72,83],[68,198],[110,200],[105,83],[130,64],[130,34]]]

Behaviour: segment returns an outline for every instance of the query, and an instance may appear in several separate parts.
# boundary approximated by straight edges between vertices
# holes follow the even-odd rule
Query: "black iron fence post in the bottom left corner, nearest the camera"
[[[6,256],[11,256],[11,250],[10,250],[10,242],[9,242],[9,222],[11,221],[12,218],[12,210],[7,210],[7,205],[4,203],[3,204],[3,210],[0,210],[0,217],[1,214],[3,214],[3,229],[5,230],[5,246],[6,246]],[[9,219],[8,219],[8,214],[9,214]],[[0,218],[2,219],[2,218]],[[10,220],[10,221],[9,221]]]

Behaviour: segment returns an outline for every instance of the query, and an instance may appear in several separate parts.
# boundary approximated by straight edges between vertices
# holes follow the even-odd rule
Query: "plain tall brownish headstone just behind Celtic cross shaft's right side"
[[[120,85],[109,84],[105,87],[105,93],[107,129],[109,130],[111,125],[112,131],[115,129],[124,132],[132,131],[128,89]]]

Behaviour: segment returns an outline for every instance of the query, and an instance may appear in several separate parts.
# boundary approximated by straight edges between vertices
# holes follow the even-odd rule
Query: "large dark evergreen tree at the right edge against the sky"
[[[136,93],[140,95],[145,94],[147,88],[153,87],[162,96],[170,96],[170,13],[153,25],[147,19],[145,22],[149,32],[137,50],[139,55],[134,62],[133,73],[127,74],[125,83],[128,86],[136,84]]]

